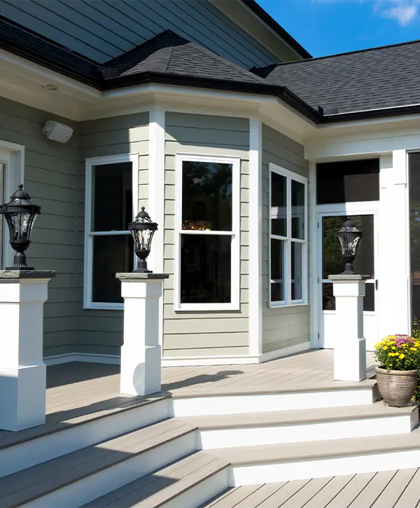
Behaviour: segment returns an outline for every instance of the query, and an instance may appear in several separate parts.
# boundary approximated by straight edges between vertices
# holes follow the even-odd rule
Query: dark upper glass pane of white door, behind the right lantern
[[[356,259],[353,267],[355,273],[370,275],[374,279],[374,216],[370,215],[352,215],[349,217],[356,228],[363,233],[356,251]],[[336,215],[332,217],[323,217],[322,231],[322,277],[328,279],[328,275],[342,273],[344,270],[344,261],[342,259],[339,242],[335,238],[335,233],[339,231],[346,216]]]

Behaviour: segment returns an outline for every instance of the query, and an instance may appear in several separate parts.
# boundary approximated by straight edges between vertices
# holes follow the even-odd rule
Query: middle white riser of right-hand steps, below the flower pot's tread
[[[410,414],[381,418],[355,418],[291,425],[264,427],[239,427],[236,429],[200,430],[199,447],[235,448],[236,446],[260,446],[265,444],[323,441],[349,437],[384,436],[411,432],[416,422]]]

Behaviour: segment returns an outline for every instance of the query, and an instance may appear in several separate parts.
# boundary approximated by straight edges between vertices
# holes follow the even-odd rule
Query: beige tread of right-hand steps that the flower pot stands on
[[[410,415],[418,411],[418,406],[393,408],[382,401],[362,406],[344,406],[316,409],[298,409],[286,411],[235,413],[229,415],[186,416],[177,417],[183,423],[195,425],[202,430],[232,427],[263,427],[265,425],[286,425],[293,423],[325,422],[329,420],[346,420],[353,418],[369,418],[384,416]]]

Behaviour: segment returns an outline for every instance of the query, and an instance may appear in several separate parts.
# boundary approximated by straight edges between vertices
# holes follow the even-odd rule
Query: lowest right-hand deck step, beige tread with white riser
[[[231,464],[231,486],[420,467],[420,427],[409,434],[211,450]]]

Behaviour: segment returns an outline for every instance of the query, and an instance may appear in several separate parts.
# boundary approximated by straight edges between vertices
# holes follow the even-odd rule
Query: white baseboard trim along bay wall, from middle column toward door
[[[163,358],[162,367],[262,364],[269,362],[269,360],[296,355],[310,349],[314,349],[311,343],[305,342],[289,348],[265,352],[262,355]]]

